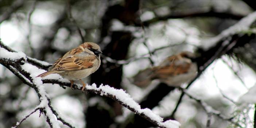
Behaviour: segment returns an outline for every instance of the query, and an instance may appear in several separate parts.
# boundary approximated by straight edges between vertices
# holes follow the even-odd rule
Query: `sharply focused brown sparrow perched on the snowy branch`
[[[99,54],[101,53],[98,44],[85,42],[79,45],[79,47],[68,51],[50,67],[49,71],[37,77],[45,77],[57,73],[69,79],[71,83],[70,88],[72,88],[74,81],[79,79],[83,84],[82,90],[84,90],[86,84],[81,79],[98,70],[101,62]]]

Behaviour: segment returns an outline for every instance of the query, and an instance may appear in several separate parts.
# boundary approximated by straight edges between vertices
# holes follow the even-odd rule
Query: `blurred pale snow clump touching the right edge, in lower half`
[[[250,88],[247,93],[239,98],[238,103],[256,103],[256,84],[252,88]]]

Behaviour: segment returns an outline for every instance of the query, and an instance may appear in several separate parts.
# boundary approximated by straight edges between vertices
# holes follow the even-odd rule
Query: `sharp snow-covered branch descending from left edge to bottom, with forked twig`
[[[48,94],[45,92],[43,82],[41,81],[41,79],[35,78],[35,69],[38,69],[38,67],[28,63],[28,58],[24,53],[14,52],[10,48],[4,49],[3,47],[7,46],[4,46],[4,44],[1,43],[0,63],[7,67],[10,71],[12,71],[12,73],[15,74],[18,78],[20,78],[25,84],[33,88],[38,95],[40,104],[36,106],[34,110],[36,111],[37,108],[40,108],[40,111],[43,112],[46,116],[46,121],[51,128],[60,128],[59,123],[57,120],[55,120],[54,115],[57,116],[57,119],[60,120],[63,124],[69,126],[70,128],[74,128],[73,125],[67,123],[67,121],[59,117],[57,112],[51,106],[50,98],[48,97]],[[41,63],[41,65],[44,64],[45,63]],[[22,119],[20,123],[26,120],[27,117],[31,114],[27,115],[24,119]]]

